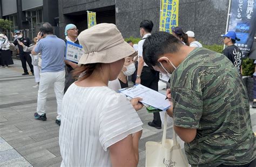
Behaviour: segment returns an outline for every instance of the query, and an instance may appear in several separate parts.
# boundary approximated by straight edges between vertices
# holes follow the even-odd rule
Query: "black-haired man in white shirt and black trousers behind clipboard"
[[[151,35],[153,29],[153,23],[150,20],[143,20],[140,23],[140,36],[142,40],[138,43],[138,70],[136,84],[142,84],[147,88],[158,91],[159,72],[151,69],[143,60],[143,44],[147,37]],[[159,113],[153,113],[153,121],[148,122],[147,125],[161,129],[161,119]]]

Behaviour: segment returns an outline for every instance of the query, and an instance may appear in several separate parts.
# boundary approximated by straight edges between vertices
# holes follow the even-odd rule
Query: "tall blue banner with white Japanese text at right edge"
[[[242,57],[250,52],[256,31],[256,3],[255,0],[231,1],[227,31],[235,31],[237,38],[235,45],[242,51]]]

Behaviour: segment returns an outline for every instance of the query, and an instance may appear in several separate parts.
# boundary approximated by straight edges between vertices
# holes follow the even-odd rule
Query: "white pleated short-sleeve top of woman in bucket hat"
[[[62,104],[61,166],[111,166],[108,148],[142,130],[130,101],[106,86],[83,88],[73,83]]]

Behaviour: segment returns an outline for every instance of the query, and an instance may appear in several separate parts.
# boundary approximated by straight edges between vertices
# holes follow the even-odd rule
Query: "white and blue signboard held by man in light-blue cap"
[[[83,55],[83,47],[77,43],[66,41],[65,59],[78,63]]]

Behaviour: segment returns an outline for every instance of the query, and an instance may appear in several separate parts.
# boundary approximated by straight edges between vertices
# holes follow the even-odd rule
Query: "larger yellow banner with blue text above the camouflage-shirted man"
[[[159,31],[172,32],[178,26],[179,0],[161,0]]]

